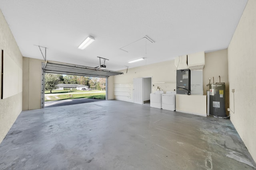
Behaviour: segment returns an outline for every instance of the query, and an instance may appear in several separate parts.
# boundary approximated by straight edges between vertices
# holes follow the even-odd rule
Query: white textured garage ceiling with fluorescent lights
[[[123,70],[198,51],[226,49],[247,0],[0,0],[24,57]],[[91,35],[86,49],[77,47]],[[147,35],[155,43],[121,47]],[[133,48],[134,47],[134,48]],[[146,60],[128,64],[145,57]]]

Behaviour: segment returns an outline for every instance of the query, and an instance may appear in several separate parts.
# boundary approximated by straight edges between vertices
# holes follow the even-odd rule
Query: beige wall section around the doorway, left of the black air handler
[[[126,72],[126,70],[121,70],[121,72]],[[127,73],[114,76],[114,98],[132,102],[133,79],[142,77],[152,77],[153,92],[157,86],[161,86],[164,92],[173,91],[176,89],[176,67],[174,60],[129,68]]]

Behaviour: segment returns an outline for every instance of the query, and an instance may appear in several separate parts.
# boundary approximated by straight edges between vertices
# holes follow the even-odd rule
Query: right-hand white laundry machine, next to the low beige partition
[[[164,110],[175,111],[175,95],[174,91],[167,91],[166,94],[162,94],[162,108]]]

